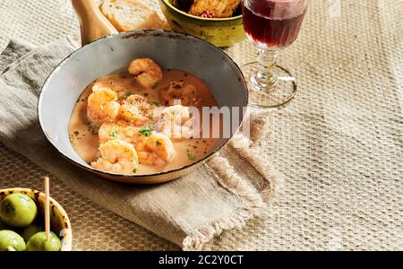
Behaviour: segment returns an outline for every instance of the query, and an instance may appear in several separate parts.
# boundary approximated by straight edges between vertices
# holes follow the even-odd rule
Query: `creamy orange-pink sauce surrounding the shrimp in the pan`
[[[181,81],[185,84],[191,83],[196,86],[201,96],[201,107],[215,107],[217,102],[214,96],[204,82],[195,77],[193,74],[186,73],[180,70],[166,70],[163,72],[162,81],[159,82],[155,89],[142,89],[134,79],[133,75],[128,73],[122,74],[110,74],[99,78],[96,82],[107,83],[114,88],[114,84],[120,84],[124,86],[124,89],[131,93],[140,94],[146,97],[149,101],[159,101],[159,88],[166,87],[169,82]],[[87,163],[96,161],[99,157],[99,135],[96,134],[93,126],[90,126],[87,119],[87,100],[92,92],[92,82],[85,91],[82,92],[81,97],[77,100],[75,107],[73,108],[72,117],[69,123],[69,137],[73,144],[75,152],[81,157],[81,159]],[[119,95],[119,92],[118,92]],[[164,105],[164,104],[161,104]],[[162,171],[168,171],[172,169],[182,168],[186,165],[193,163],[194,161],[201,160],[207,154],[209,154],[217,145],[217,138],[192,138],[192,139],[172,139],[176,150],[176,156],[173,161],[170,161],[166,165],[151,166],[140,164],[136,170],[136,175],[147,175]],[[189,152],[190,155],[189,156]],[[192,158],[194,156],[194,159]],[[191,158],[189,158],[191,157]],[[193,159],[193,160],[191,160]]]

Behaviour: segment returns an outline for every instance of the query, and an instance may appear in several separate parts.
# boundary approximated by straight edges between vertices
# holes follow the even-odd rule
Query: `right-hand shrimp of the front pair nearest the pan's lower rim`
[[[165,134],[152,132],[134,144],[141,164],[164,165],[176,155],[174,144]]]

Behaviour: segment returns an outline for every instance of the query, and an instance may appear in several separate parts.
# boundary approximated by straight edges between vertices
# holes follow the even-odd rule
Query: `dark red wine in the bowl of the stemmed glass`
[[[305,0],[244,0],[244,30],[263,48],[285,48],[298,37]]]

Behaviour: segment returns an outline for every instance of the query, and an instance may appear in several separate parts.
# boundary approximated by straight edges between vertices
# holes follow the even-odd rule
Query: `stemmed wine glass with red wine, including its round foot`
[[[257,62],[242,66],[250,105],[277,108],[296,95],[296,78],[277,65],[279,51],[298,37],[308,0],[242,0],[244,31],[258,49]]]

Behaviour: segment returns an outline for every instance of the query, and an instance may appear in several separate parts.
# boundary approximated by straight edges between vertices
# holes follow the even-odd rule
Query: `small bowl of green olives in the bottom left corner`
[[[46,195],[29,188],[0,190],[0,251],[71,251],[72,226],[49,197],[50,239],[44,231]]]

